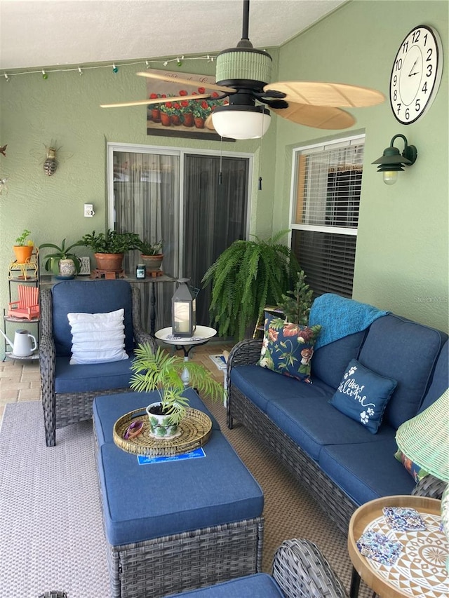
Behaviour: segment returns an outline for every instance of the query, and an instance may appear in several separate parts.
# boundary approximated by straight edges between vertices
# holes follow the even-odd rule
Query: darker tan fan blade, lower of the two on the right
[[[288,108],[270,108],[270,111],[298,125],[317,129],[346,129],[356,122],[352,114],[340,110],[340,108],[328,106],[309,106],[288,102]]]

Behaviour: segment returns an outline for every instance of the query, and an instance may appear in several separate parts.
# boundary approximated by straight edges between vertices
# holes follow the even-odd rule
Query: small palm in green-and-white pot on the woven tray
[[[185,385],[181,378],[185,370],[192,387],[208,395],[210,400],[222,399],[225,392],[203,365],[169,355],[161,347],[154,352],[148,343],[140,344],[135,350],[130,369],[134,372],[130,388],[141,393],[157,390],[159,401],[148,405],[147,414],[152,435],[166,440],[177,435],[177,426],[189,407],[189,399],[183,396]]]

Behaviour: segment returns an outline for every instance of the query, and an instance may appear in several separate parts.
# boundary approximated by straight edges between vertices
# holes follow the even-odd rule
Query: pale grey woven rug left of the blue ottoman
[[[40,402],[6,405],[0,430],[0,596],[109,597],[92,423],[48,448]]]

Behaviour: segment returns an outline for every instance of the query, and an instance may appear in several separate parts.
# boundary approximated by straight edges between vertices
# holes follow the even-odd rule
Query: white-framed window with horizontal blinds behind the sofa
[[[352,297],[364,141],[294,150],[291,247],[316,297]]]

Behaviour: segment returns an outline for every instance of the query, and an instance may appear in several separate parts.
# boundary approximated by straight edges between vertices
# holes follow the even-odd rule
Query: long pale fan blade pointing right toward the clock
[[[286,94],[287,102],[311,106],[363,108],[385,99],[383,93],[375,89],[319,81],[277,81],[264,86],[264,91],[281,91]]]

